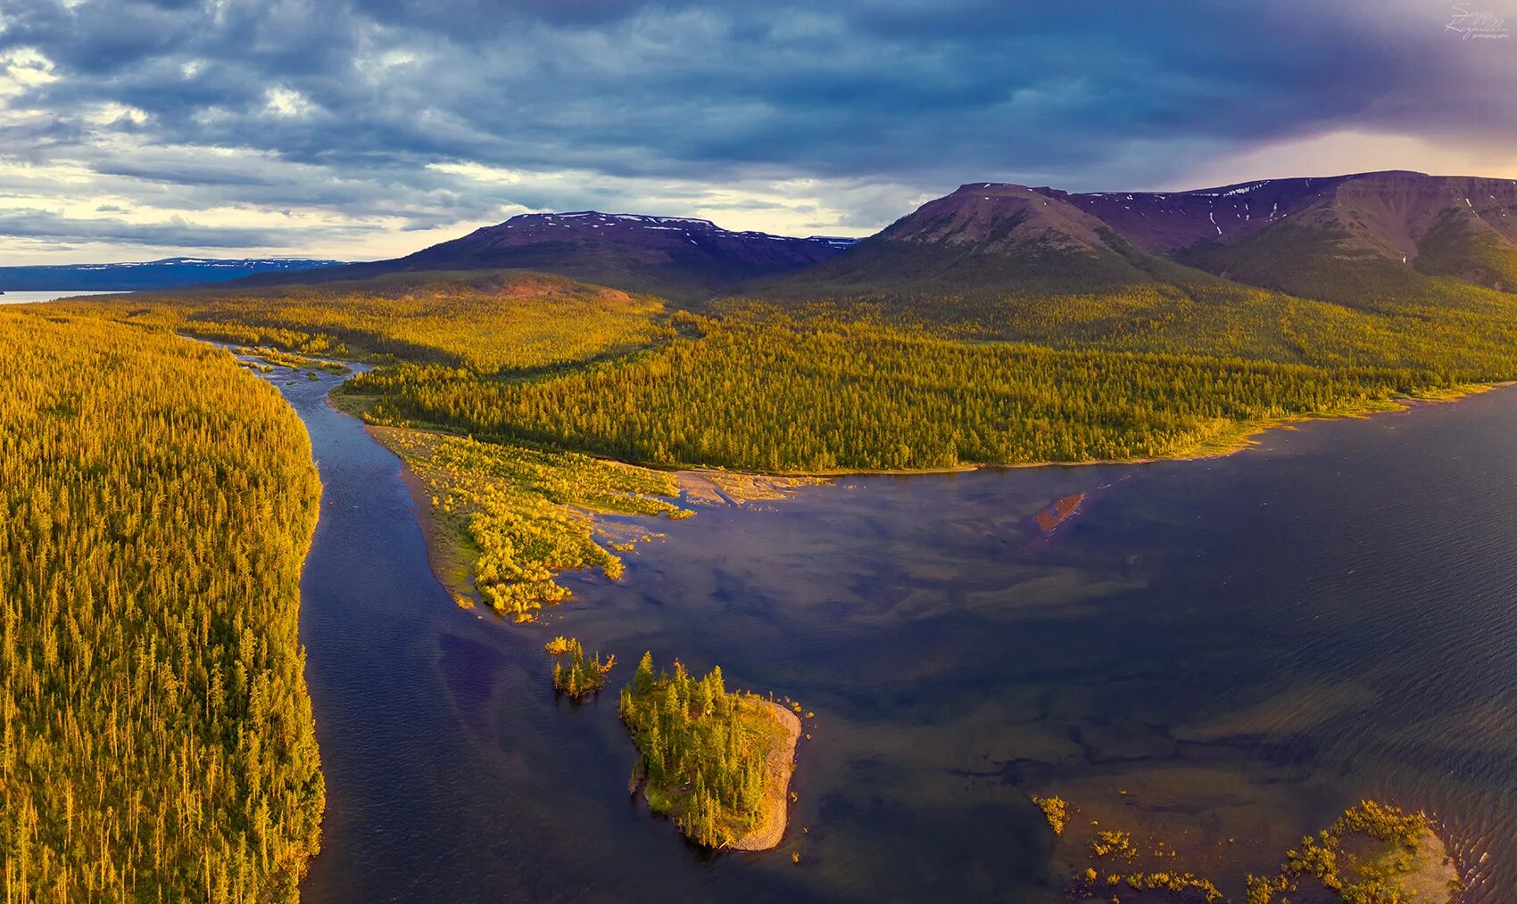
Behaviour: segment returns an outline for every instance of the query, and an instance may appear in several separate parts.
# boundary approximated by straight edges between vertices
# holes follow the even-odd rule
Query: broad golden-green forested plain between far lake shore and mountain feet
[[[1176,281],[669,314],[645,296],[484,272],[64,309],[373,356],[381,367],[343,391],[375,423],[765,472],[1209,454],[1279,420],[1517,376],[1509,293],[1424,281],[1365,306]]]

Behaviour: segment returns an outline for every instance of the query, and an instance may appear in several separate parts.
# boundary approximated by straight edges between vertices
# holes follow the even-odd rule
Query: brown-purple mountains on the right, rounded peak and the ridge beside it
[[[1200,272],[1340,303],[1415,294],[1431,276],[1514,291],[1517,182],[1390,171],[1091,194],[977,182],[765,291],[1101,294]]]

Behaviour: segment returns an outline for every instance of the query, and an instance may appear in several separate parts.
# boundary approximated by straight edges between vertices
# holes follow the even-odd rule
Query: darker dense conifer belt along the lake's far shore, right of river
[[[1367,411],[1456,378],[1186,353],[965,343],[836,320],[677,314],[658,347],[540,379],[437,367],[352,384],[387,423],[660,466],[907,470],[1159,458],[1279,419]]]

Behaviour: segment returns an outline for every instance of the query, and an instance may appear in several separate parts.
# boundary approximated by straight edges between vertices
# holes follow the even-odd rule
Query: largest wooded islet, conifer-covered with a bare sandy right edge
[[[784,834],[801,720],[752,693],[728,693],[721,667],[693,678],[678,660],[654,673],[643,654],[622,690],[622,720],[642,754],[631,790],[708,848],[765,851]]]

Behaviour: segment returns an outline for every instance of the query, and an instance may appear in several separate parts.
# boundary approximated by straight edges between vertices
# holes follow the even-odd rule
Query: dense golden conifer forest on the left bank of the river
[[[293,901],[323,780],[294,411],[170,334],[0,314],[8,901]]]

